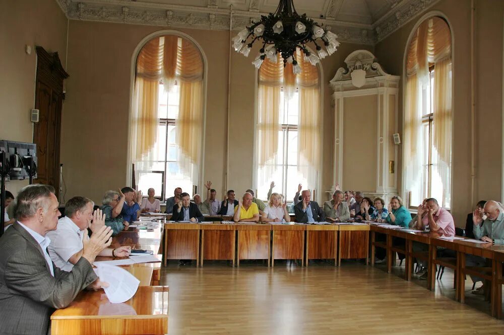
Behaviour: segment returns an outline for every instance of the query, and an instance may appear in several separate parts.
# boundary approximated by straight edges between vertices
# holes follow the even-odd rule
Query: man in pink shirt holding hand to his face
[[[455,223],[452,214],[440,207],[434,198],[428,198],[425,203],[422,202],[418,206],[417,223],[415,223],[414,227],[423,230],[426,226],[429,226],[431,232],[437,232],[443,236],[455,236]],[[428,249],[427,244],[413,242],[414,252],[426,252]],[[443,250],[444,248],[437,248],[437,252]],[[423,268],[427,268],[426,261],[420,261],[420,264]],[[420,279],[427,279],[427,269],[420,271]]]

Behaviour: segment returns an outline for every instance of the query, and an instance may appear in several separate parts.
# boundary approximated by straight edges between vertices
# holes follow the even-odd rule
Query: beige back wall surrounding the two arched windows
[[[138,43],[159,27],[70,21],[68,99],[62,120],[61,162],[67,199],[86,195],[99,201],[107,189],[126,182],[131,59]],[[205,169],[219,198],[252,186],[256,69],[248,58],[231,54],[229,171],[226,176],[229,33],[178,29],[196,40],[208,59]],[[332,183],[333,112],[328,82],[344,58],[360,45],[343,44],[323,61],[324,167],[322,187]],[[227,179],[226,179],[227,178]],[[200,185],[202,187],[202,185]],[[266,197],[266,195],[260,195]]]

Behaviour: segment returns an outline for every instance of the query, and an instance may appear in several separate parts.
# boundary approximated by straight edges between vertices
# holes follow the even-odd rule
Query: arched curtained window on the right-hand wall
[[[440,17],[424,20],[407,48],[405,190],[411,206],[436,198],[451,206],[452,36]]]

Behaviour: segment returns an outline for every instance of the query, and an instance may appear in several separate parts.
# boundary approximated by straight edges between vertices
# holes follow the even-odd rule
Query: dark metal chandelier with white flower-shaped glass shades
[[[304,53],[311,65],[316,65],[337,50],[340,43],[336,38],[336,34],[324,31],[316,22],[307,18],[306,14],[297,14],[293,0],[280,0],[275,14],[262,15],[261,21],[253,22],[240,31],[233,38],[233,47],[247,57],[254,42],[262,40],[263,46],[252,62],[256,68],[261,67],[266,58],[276,63],[277,54],[280,53],[284,66],[292,63],[293,72],[297,74],[301,73],[301,67],[295,58],[297,48]],[[318,55],[308,50],[308,42],[313,42]],[[327,51],[322,48],[322,44]]]

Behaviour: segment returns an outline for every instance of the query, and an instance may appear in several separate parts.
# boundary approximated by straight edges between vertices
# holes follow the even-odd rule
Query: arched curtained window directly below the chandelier
[[[316,189],[320,169],[320,75],[298,49],[291,62],[265,59],[258,72],[256,171],[258,196],[265,199],[270,183],[286,200],[303,189]]]

